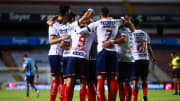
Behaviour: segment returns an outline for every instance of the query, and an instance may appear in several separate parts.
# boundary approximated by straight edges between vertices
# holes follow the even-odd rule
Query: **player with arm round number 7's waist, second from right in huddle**
[[[131,24],[130,22],[128,22]],[[128,23],[119,29],[119,38],[114,40],[113,44],[119,44],[117,52],[119,53],[119,97],[120,101],[131,101],[132,90],[130,86],[130,77],[133,66],[133,57],[131,54],[131,31],[127,27]],[[132,26],[132,25],[131,25]],[[103,47],[111,45],[111,41],[105,41]]]

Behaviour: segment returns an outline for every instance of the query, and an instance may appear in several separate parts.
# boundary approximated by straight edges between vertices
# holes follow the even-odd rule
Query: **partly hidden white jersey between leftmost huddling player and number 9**
[[[68,32],[73,32],[78,28],[78,21],[73,22],[72,24],[69,24],[67,26]],[[70,56],[70,51],[71,51],[71,46],[72,46],[72,39],[67,39],[64,40],[65,46],[64,46],[64,52],[63,52],[63,57],[69,57]]]

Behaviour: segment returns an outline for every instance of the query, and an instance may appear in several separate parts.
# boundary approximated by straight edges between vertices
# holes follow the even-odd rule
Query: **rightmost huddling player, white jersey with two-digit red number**
[[[147,76],[149,72],[149,58],[155,62],[150,46],[150,39],[146,32],[140,29],[140,23],[137,19],[134,20],[136,30],[132,33],[132,54],[135,60],[135,80],[133,80],[133,99],[137,101],[138,83],[141,79],[143,89],[143,100],[147,101]]]

